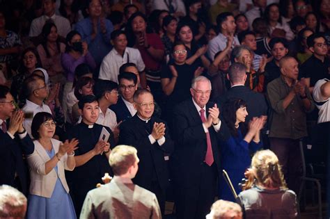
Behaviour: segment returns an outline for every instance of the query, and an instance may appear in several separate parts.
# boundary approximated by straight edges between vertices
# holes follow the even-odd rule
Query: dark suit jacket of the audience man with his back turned
[[[231,98],[243,99],[247,106],[246,110],[249,115],[246,116],[246,122],[249,122],[253,117],[260,115],[267,115],[267,103],[265,96],[250,90],[246,86],[235,86],[230,88],[223,96],[217,99],[218,107],[221,108],[223,104]]]

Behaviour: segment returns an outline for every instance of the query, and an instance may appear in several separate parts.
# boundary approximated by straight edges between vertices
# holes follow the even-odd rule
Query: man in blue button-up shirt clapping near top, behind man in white
[[[87,42],[88,50],[93,56],[97,71],[104,56],[111,50],[110,35],[113,25],[109,19],[102,17],[100,0],[88,0],[89,17],[78,22],[74,29],[81,35],[81,40]]]

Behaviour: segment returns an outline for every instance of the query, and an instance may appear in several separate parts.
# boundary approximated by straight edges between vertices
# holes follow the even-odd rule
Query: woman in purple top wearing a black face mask
[[[91,67],[92,71],[96,68],[95,60],[88,51],[88,44],[81,41],[81,35],[78,31],[70,31],[70,33],[66,35],[65,53],[61,56],[61,63],[66,76],[62,101],[63,111],[66,112],[68,109],[66,98],[73,88],[74,71],[76,67],[82,63],[86,63]]]

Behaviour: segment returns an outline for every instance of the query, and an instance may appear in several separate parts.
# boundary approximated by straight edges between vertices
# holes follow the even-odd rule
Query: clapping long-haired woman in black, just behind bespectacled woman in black
[[[177,40],[184,43],[187,49],[186,63],[191,66],[204,67],[206,70],[210,67],[210,60],[205,56],[207,46],[198,47],[194,41],[194,35],[188,24],[179,23],[176,29]]]

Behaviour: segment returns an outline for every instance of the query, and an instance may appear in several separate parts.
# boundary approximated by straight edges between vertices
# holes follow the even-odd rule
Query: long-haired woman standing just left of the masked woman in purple
[[[40,56],[42,67],[48,72],[50,81],[65,83],[64,71],[61,64],[61,55],[65,51],[65,44],[59,41],[56,25],[46,22],[42,27],[43,42],[38,45],[37,51]]]

